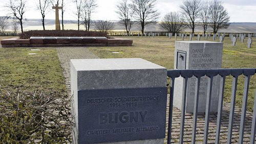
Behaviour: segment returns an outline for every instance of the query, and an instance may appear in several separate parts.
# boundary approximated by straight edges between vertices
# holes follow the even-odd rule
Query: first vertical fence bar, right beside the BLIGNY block
[[[172,137],[172,118],[173,118],[173,100],[174,100],[174,82],[175,77],[172,78],[172,87],[170,89],[170,99],[169,99],[169,117],[168,117],[168,135],[167,135],[167,144],[170,143],[170,138]]]

